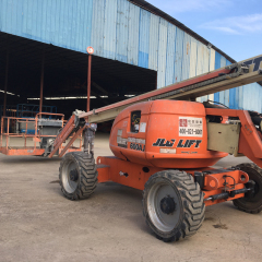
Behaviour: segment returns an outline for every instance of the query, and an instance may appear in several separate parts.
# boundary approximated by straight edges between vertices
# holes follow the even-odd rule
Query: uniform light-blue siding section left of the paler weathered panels
[[[78,51],[85,51],[91,45],[93,1],[13,0],[0,3],[2,32]]]

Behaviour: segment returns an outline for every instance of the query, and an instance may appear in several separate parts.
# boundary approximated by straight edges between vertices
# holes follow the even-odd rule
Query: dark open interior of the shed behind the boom
[[[4,86],[7,73],[4,66],[8,68],[8,110],[16,108],[17,104],[39,104],[41,73],[44,106],[57,107],[56,110],[67,117],[70,117],[74,109],[86,110],[86,53],[0,33],[0,57],[1,86]],[[155,71],[93,57],[92,109],[155,88]],[[1,88],[3,90],[4,87]],[[0,96],[3,100],[4,93],[1,92]],[[45,111],[45,108],[43,110]]]

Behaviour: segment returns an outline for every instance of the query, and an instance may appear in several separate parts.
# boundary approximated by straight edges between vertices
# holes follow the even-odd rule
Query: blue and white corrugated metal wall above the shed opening
[[[127,0],[0,0],[0,31],[157,71],[163,87],[228,64],[164,19]],[[252,84],[199,98],[261,111]]]

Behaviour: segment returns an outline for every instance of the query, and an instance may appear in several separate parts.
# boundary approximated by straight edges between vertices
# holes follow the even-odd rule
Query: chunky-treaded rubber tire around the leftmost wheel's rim
[[[69,163],[73,163],[78,171],[78,181],[75,181],[76,186],[73,192],[67,190],[67,183],[62,179],[67,175]],[[96,189],[97,175],[95,159],[91,154],[84,152],[68,153],[62,158],[59,167],[59,181],[63,195],[69,200],[87,199]]]

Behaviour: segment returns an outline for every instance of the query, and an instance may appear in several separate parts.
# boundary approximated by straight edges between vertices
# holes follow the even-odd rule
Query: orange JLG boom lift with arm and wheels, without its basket
[[[64,196],[86,199],[97,182],[106,181],[143,190],[145,219],[164,241],[195,234],[207,205],[233,201],[241,211],[261,212],[262,116],[210,102],[192,102],[201,95],[262,81],[261,61],[261,56],[255,57],[75,115],[47,152],[51,157],[72,129],[85,130],[84,152],[66,154],[60,164]],[[85,119],[85,127],[79,128],[79,119]],[[115,156],[98,156],[95,164],[88,136],[91,123],[109,119],[115,119],[109,139]],[[64,153],[67,146],[59,155]],[[247,156],[253,163],[227,169],[211,167],[228,154]]]

